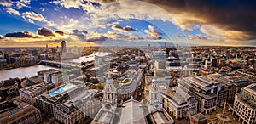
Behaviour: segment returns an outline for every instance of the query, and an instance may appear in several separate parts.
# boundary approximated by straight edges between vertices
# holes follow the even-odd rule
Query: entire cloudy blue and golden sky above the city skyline
[[[0,48],[255,46],[250,0],[0,0]]]

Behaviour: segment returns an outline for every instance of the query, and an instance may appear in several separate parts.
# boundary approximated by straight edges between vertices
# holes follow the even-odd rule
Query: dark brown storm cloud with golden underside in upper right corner
[[[230,40],[252,40],[256,38],[256,1],[247,0],[143,0],[166,9],[173,15],[177,25],[191,29],[194,25],[211,26],[224,34],[213,35]],[[203,29],[202,31],[206,31]],[[206,31],[212,35],[210,31]],[[239,36],[233,34],[239,34]]]

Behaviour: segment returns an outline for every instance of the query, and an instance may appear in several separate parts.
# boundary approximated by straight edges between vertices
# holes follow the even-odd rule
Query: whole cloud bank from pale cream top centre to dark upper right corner
[[[104,3],[102,0],[95,0]],[[200,29],[207,36],[226,41],[250,41],[256,38],[256,1],[232,0],[127,0],[102,4],[106,17],[141,20],[169,20],[182,30]],[[111,1],[112,2],[112,1]],[[150,11],[148,11],[150,10]],[[97,12],[97,11],[96,11]],[[96,22],[96,21],[94,21]],[[203,25],[203,26],[198,26]],[[211,27],[223,33],[211,34]],[[218,35],[220,34],[220,35]],[[239,34],[233,37],[231,35]]]

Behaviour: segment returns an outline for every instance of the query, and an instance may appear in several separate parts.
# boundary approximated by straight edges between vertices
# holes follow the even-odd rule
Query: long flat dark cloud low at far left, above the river
[[[29,31],[18,31],[18,32],[13,32],[13,33],[7,33],[7,34],[5,34],[5,37],[36,38],[37,36]]]

